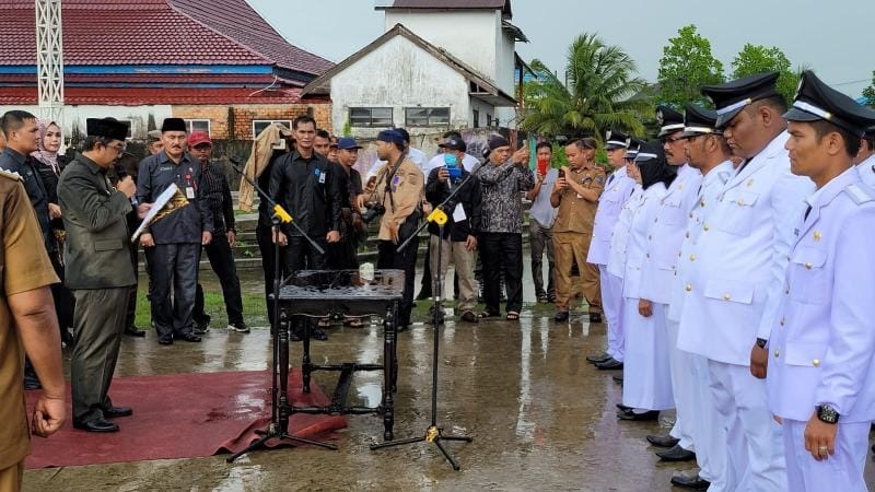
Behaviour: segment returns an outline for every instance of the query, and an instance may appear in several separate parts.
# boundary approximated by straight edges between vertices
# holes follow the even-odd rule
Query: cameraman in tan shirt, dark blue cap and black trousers
[[[422,171],[407,155],[405,138],[397,130],[383,130],[376,138],[376,153],[386,165],[380,171],[370,195],[359,198],[359,206],[368,204],[362,215],[371,221],[382,214],[377,268],[404,270],[404,297],[398,313],[398,329],[410,326],[413,307],[413,277],[416,276],[418,241],[413,238],[400,251],[395,249],[413,235],[422,215]]]

